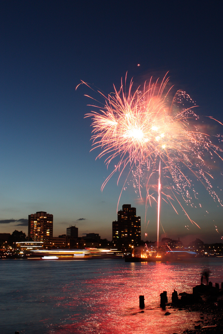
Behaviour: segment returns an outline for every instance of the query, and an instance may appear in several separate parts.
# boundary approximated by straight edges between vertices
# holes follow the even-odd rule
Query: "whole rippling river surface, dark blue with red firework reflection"
[[[0,260],[0,333],[171,334],[200,314],[159,308],[160,293],[192,292],[200,273],[223,282],[223,260],[125,263],[118,260]],[[139,295],[145,296],[140,313]]]

